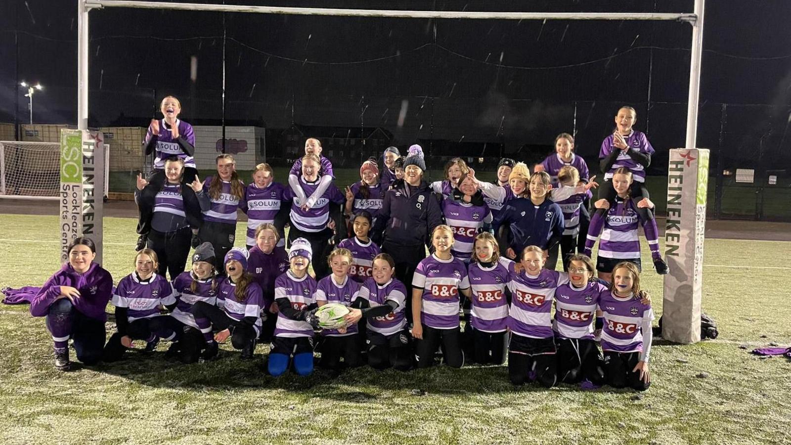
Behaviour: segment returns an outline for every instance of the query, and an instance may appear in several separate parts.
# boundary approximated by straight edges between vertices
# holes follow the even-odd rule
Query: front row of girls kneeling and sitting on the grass
[[[262,224],[256,232],[259,252],[282,257],[274,253],[283,248],[277,246],[273,224]],[[634,264],[616,264],[607,286],[593,277],[585,255],[573,256],[566,273],[544,268],[543,250],[535,245],[526,247],[517,262],[501,257],[488,232],[476,235],[468,264],[452,255],[449,226],[437,226],[431,242],[433,253],[419,262],[411,283],[411,329],[407,287],[395,278],[392,257],[374,257],[371,276],[360,282],[350,276],[350,250],[337,248],[315,259],[331,269],[317,281],[308,273],[314,257],[304,238],[293,241],[282,264],[285,271],[274,283],[271,272],[263,277],[273,284],[274,299],[264,296],[256,276],[263,271],[251,264],[244,248],[229,250],[221,276],[214,249],[205,242],[195,249],[191,271],[172,283],[154,272],[157,254],[142,249],[134,256],[134,272],[113,290],[110,274],[93,263],[93,242],[78,238],[69,246],[69,262],[44,284],[31,311],[47,318],[55,367],[63,371],[71,367],[70,338],[78,359],[88,365],[121,359],[135,340],[145,343],[142,352],[168,340],[165,357],[184,363],[216,359],[218,344],[230,340],[241,359],[252,359],[267,313],[274,312],[266,365],[273,376],[290,369],[311,374],[318,331],[318,363],[333,371],[365,363],[400,371],[430,367],[441,347],[442,361],[450,367],[464,366],[467,354],[474,363],[501,365],[507,352],[515,385],[649,387],[653,312]],[[465,327],[469,345],[460,330],[464,299],[471,302]],[[116,332],[104,344],[107,302],[115,306]],[[350,308],[346,327],[318,329],[316,309],[328,302]],[[604,357],[594,340],[596,328]]]

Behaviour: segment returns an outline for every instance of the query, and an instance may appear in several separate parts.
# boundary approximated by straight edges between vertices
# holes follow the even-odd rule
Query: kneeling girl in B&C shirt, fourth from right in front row
[[[471,337],[476,363],[505,363],[508,321],[505,286],[509,272],[513,272],[513,261],[500,257],[500,246],[494,236],[484,232],[475,237],[475,253],[468,273],[472,291]]]

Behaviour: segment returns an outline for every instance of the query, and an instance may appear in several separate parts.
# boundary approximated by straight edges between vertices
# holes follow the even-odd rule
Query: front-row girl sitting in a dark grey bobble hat
[[[199,245],[192,254],[192,270],[182,272],[173,280],[176,308],[169,315],[151,320],[151,328],[160,333],[160,337],[172,341],[168,352],[165,352],[166,359],[178,359],[181,363],[198,361],[206,342],[192,315],[192,305],[205,302],[209,306],[217,306],[220,278],[214,268],[215,261],[211,243]]]

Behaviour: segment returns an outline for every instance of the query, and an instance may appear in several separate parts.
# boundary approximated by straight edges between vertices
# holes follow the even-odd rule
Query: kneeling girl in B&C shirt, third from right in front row
[[[531,380],[550,388],[557,382],[552,300],[555,290],[569,282],[569,276],[543,268],[545,261],[543,249],[528,245],[521,253],[524,270],[509,274],[508,373],[514,385]]]

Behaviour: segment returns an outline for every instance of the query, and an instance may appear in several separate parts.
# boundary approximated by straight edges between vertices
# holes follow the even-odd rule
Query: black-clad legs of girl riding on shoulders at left
[[[187,187],[195,177],[198,176],[198,170],[193,167],[184,167],[184,177],[181,178],[181,195],[184,198],[184,209],[187,217],[187,222],[190,226],[199,227],[201,222],[200,204],[198,203],[198,196],[195,196],[195,191]],[[153,169],[151,174],[146,179],[149,184],[146,185],[141,191],[138,198],[138,234],[145,235],[151,230],[151,216],[153,215],[154,198],[160,192],[162,186],[165,185],[167,177],[165,177],[164,169]]]

